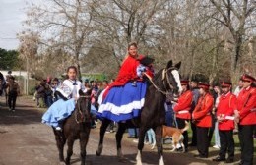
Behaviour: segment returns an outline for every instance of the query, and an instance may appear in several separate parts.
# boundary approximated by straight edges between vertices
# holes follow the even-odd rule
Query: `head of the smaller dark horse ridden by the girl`
[[[91,122],[91,90],[84,93],[79,90],[79,98],[76,103],[75,118],[77,123]]]

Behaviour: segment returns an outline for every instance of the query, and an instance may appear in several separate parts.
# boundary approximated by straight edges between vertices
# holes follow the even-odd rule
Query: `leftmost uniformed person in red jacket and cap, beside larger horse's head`
[[[189,90],[188,81],[181,81],[182,93],[178,98],[177,104],[174,106],[173,110],[176,115],[176,121],[179,129],[183,129],[186,126],[186,122],[189,122],[191,119],[191,103],[193,99],[193,94]],[[185,146],[185,151],[188,151],[188,133],[187,131],[183,132],[183,143]]]

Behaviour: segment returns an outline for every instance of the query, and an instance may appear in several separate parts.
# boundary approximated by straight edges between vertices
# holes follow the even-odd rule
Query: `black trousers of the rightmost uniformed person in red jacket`
[[[253,164],[253,129],[255,125],[238,125],[242,165]]]

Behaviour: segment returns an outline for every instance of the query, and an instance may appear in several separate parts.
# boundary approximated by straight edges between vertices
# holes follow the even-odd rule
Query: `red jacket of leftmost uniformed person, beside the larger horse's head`
[[[193,94],[190,90],[183,92],[179,99],[178,103],[174,106],[174,112],[176,117],[180,119],[191,119],[190,110],[192,104]]]

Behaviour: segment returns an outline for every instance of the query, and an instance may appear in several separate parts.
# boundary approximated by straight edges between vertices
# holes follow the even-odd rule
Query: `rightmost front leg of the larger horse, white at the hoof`
[[[156,128],[156,141],[158,147],[158,154],[159,154],[159,165],[164,165],[163,155],[162,155],[162,127],[158,126]]]

